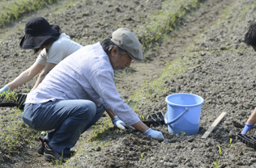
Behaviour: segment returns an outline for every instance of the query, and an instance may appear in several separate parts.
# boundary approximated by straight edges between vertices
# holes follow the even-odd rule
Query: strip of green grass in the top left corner
[[[35,12],[43,6],[58,2],[58,0],[15,0],[0,2],[0,27],[4,27],[6,23],[15,21],[20,16]]]

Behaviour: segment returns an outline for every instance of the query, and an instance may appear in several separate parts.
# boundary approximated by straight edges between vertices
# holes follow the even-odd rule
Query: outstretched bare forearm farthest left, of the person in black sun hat
[[[14,90],[15,88],[22,86],[26,82],[30,81],[33,78],[33,76],[28,72],[28,70],[24,71],[23,73],[20,73],[15,80],[8,83],[7,86],[10,88],[10,90]]]

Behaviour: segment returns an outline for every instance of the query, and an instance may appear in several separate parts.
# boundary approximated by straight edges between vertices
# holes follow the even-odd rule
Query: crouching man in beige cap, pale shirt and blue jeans
[[[111,39],[87,45],[61,61],[43,82],[28,94],[23,121],[45,137],[44,157],[54,161],[70,157],[81,133],[107,111],[113,124],[133,126],[148,136],[164,138],[148,128],[120,98],[113,82],[114,70],[143,61],[142,45],[127,28],[114,31]]]

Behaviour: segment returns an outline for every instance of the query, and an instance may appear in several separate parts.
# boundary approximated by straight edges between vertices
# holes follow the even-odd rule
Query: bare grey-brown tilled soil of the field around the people
[[[142,24],[147,24],[147,17],[160,11],[163,5],[163,1],[153,0],[87,1],[70,6],[60,14],[50,15],[49,11],[53,9],[45,9],[36,15],[57,23],[62,32],[86,45],[110,36],[119,25],[130,30],[139,29]],[[191,12],[180,23],[177,31],[160,42],[159,48],[147,52],[143,63],[133,62],[130,73],[119,74],[122,78],[117,79],[116,86],[123,99],[129,100],[139,88],[149,93],[144,99],[150,99],[151,103],[141,105],[136,111],[139,115],[165,113],[165,98],[169,94],[191,93],[203,97],[205,102],[197,134],[186,136],[181,132],[174,135],[165,125],[152,127],[163,132],[165,139],[160,141],[137,131],[110,129],[111,133],[105,137],[109,140],[108,145],[101,145],[99,141],[93,146],[84,142],[93,132],[89,130],[75,145],[74,149],[78,150],[75,157],[62,167],[210,168],[218,161],[219,167],[255,167],[255,149],[238,141],[236,136],[255,107],[255,52],[242,42],[247,27],[256,19],[255,10],[253,0],[204,1],[197,11]],[[36,59],[31,51],[20,50],[18,45],[23,36],[21,25],[26,19],[14,23],[9,31],[1,30],[4,40],[0,42],[0,86],[13,80]],[[171,78],[162,77],[167,91],[159,92],[145,85],[145,81],[159,78],[166,65],[176,58],[186,62],[182,65],[186,70]],[[15,91],[28,92],[35,82],[36,78]],[[0,107],[0,111],[7,111],[6,107]],[[221,112],[227,112],[224,120],[207,139],[201,139]],[[249,134],[253,135],[254,131]],[[36,154],[36,145],[33,141],[27,154],[10,157],[8,162],[0,161],[0,166],[54,167]]]

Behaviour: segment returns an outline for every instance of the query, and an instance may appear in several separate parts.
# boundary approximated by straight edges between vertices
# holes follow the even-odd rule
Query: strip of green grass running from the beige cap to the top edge
[[[164,36],[170,32],[175,31],[177,24],[191,11],[197,9],[201,2],[203,0],[165,1],[162,9],[151,15],[151,22],[139,27],[138,31],[143,31],[143,33],[138,33],[140,34],[138,38],[143,45],[143,52],[146,52],[147,48],[154,47],[156,42],[163,40]],[[141,19],[143,21],[143,15],[141,15]]]

